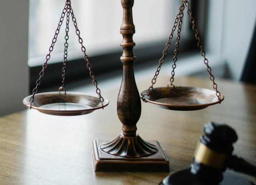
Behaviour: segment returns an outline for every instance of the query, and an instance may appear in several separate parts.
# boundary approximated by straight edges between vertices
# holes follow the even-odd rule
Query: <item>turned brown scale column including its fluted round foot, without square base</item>
[[[135,43],[132,36],[135,33],[135,26],[132,20],[132,6],[134,0],[121,0],[123,11],[123,22],[120,33],[123,41],[120,44],[123,48],[120,60],[123,63],[122,84],[117,98],[117,115],[123,124],[123,133],[110,142],[101,144],[100,148],[115,156],[122,157],[145,157],[153,155],[158,151],[153,144],[145,142],[136,134],[136,123],[140,119],[141,100],[134,77],[133,54]]]

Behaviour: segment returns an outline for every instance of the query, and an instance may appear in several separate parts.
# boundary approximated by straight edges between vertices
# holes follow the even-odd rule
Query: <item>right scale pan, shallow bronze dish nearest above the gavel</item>
[[[142,91],[141,98],[146,93],[148,90]],[[215,91],[198,87],[158,87],[144,98],[149,103],[169,110],[200,110],[219,103]],[[220,94],[220,101],[223,99],[224,96]]]

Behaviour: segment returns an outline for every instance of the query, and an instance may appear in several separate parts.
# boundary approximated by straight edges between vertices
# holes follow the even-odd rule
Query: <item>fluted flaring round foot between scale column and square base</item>
[[[154,144],[145,142],[138,134],[135,137],[118,136],[100,145],[101,151],[120,157],[146,157],[157,153]]]

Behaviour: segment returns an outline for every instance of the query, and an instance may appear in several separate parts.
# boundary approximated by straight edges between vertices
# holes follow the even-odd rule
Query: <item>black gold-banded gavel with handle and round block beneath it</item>
[[[238,136],[233,128],[225,124],[210,122],[204,126],[190,169],[167,176],[160,185],[252,184],[227,168],[256,177],[256,167],[242,158],[232,155],[233,143]],[[224,176],[223,176],[223,172]],[[224,177],[224,178],[223,178]]]

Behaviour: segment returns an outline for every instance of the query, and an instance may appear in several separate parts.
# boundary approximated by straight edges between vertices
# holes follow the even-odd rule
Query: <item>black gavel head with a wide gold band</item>
[[[223,179],[237,134],[228,125],[213,122],[205,124],[204,134],[197,145],[191,173],[204,184],[217,184]]]

